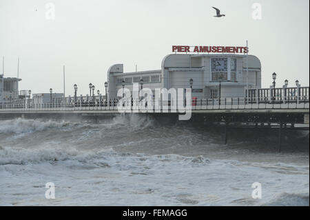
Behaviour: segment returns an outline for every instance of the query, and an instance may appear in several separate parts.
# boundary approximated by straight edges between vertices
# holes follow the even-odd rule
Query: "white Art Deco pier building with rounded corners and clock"
[[[124,72],[123,64],[111,66],[107,72],[108,99],[116,99],[123,88],[132,90],[132,83],[143,88],[190,88],[192,97],[218,99],[245,97],[245,90],[261,88],[260,60],[246,54],[169,54],[163,58],[161,69]]]

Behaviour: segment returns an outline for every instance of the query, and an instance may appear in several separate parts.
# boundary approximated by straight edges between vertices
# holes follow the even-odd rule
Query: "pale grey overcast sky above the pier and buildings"
[[[46,3],[55,19],[46,19]],[[262,19],[252,18],[253,3]],[[226,17],[215,18],[215,6]],[[262,87],[285,79],[309,86],[309,0],[0,0],[0,57],[6,77],[32,93],[86,94],[88,83],[104,94],[107,69],[161,68],[172,45],[245,46],[262,63]],[[1,65],[2,66],[2,65]],[[2,72],[2,68],[1,68]]]

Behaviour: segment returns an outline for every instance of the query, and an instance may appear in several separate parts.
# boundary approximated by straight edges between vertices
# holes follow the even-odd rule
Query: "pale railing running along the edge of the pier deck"
[[[147,105],[152,105],[153,110],[171,111],[171,101],[159,101],[147,103],[141,100],[130,99],[122,106],[131,106],[132,110],[144,110]],[[309,109],[309,94],[305,96],[289,97],[244,97],[244,98],[220,98],[220,99],[192,99],[192,110],[242,110],[242,109]],[[157,105],[157,106],[156,106]],[[186,99],[183,100],[183,107]],[[136,107],[137,106],[137,107]],[[72,97],[52,99],[48,103],[36,103],[33,99],[25,99],[22,103],[15,102],[0,105],[1,111],[74,111],[74,110],[118,110],[118,99],[105,100],[101,97]]]

